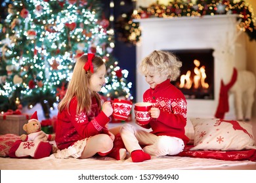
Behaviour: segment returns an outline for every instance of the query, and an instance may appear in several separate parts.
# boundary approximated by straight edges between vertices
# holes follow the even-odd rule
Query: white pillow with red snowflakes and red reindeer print
[[[256,149],[252,126],[236,120],[190,118],[194,147],[190,150]]]

